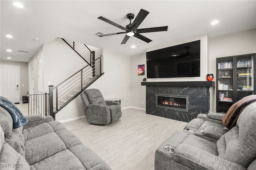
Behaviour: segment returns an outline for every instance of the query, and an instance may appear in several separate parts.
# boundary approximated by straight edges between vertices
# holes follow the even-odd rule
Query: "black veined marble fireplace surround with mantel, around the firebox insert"
[[[141,85],[146,85],[146,114],[189,122],[210,110],[210,87],[215,82],[141,82]],[[157,107],[157,95],[188,96],[188,111]]]

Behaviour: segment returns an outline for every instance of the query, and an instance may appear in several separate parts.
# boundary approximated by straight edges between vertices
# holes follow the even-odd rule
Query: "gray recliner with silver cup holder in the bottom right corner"
[[[155,170],[255,170],[256,102],[240,113],[236,125],[215,143],[176,132],[155,154]]]

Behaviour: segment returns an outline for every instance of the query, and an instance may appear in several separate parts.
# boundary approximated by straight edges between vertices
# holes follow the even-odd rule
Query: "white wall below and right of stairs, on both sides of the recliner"
[[[121,107],[131,106],[131,57],[103,49],[104,75],[88,89],[99,89],[105,99],[122,99]],[[57,121],[84,116],[80,95],[56,114]]]

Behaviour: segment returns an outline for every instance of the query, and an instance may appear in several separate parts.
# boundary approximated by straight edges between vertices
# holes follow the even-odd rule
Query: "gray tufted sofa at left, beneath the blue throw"
[[[14,128],[17,120],[7,110],[0,107],[0,169],[111,169],[102,158],[52,117],[24,116],[23,119],[28,123]]]

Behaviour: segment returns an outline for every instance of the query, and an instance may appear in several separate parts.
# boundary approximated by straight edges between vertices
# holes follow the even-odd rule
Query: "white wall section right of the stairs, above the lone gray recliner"
[[[99,89],[105,99],[122,99],[131,106],[131,56],[103,49],[104,75],[88,89]]]

